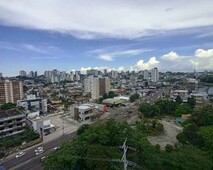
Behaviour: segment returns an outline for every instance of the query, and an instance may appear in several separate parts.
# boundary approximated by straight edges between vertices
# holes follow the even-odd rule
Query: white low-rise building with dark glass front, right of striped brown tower
[[[33,112],[47,113],[47,99],[36,98],[35,95],[27,96],[26,100],[18,100],[17,106],[24,107],[28,114]]]

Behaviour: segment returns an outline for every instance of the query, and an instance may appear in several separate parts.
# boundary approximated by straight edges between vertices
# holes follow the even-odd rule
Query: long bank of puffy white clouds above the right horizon
[[[176,52],[169,52],[159,58],[151,57],[148,62],[139,60],[135,66],[137,70],[158,67],[160,71],[193,71],[213,70],[213,49],[198,49],[193,56],[180,56]]]

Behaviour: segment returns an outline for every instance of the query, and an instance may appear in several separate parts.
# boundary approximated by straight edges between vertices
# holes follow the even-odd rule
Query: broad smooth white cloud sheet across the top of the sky
[[[132,39],[175,29],[212,26],[212,6],[211,0],[1,0],[0,22],[83,39]]]

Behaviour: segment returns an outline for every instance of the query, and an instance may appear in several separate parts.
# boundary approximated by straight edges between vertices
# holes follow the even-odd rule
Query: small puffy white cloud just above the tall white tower
[[[156,67],[160,62],[156,60],[156,57],[151,57],[148,62],[144,60],[139,60],[136,64],[139,70],[149,70]]]

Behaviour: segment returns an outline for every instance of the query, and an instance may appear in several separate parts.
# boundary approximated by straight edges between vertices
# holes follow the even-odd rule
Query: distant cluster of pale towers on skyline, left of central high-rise
[[[65,71],[58,71],[56,69],[52,71],[45,71],[44,77],[51,81],[51,83],[58,83],[60,81],[79,81],[80,80],[80,71],[71,71],[70,73],[66,73]]]

